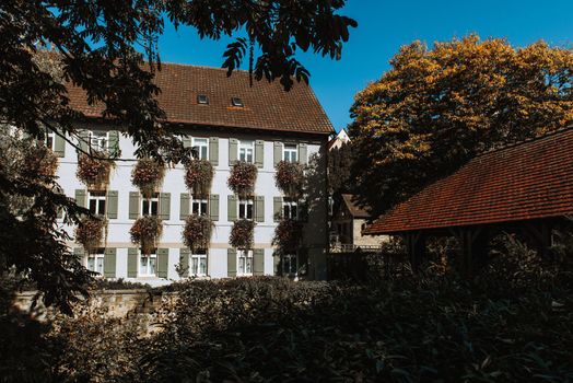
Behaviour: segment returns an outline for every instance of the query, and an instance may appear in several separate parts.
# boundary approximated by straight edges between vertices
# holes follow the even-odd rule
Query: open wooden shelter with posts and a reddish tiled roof
[[[461,271],[486,260],[492,235],[524,233],[547,254],[573,214],[573,127],[481,154],[382,216],[367,234],[401,236],[417,267],[429,236],[456,236]]]

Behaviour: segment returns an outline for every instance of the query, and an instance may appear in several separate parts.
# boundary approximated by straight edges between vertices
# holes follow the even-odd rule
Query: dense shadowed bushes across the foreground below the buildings
[[[571,382],[569,266],[519,246],[508,241],[469,282],[429,267],[362,286],[176,283],[179,299],[153,320],[161,332],[79,309],[42,337],[51,353],[39,365],[69,381]]]

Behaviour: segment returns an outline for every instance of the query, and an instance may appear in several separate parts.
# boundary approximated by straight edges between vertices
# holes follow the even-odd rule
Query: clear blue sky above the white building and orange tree
[[[299,59],[337,130],[350,123],[354,94],[388,69],[399,47],[421,39],[429,45],[477,33],[505,37],[514,46],[538,39],[573,46],[573,0],[557,1],[383,1],[349,0],[341,12],[359,22],[339,61],[309,54]],[[220,67],[229,40],[200,40],[190,28],[167,26],[160,40],[163,61]]]

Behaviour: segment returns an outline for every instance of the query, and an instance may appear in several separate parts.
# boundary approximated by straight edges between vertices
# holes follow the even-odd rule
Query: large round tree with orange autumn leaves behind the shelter
[[[488,150],[573,121],[573,50],[504,39],[405,46],[351,108],[352,174],[378,216]]]

